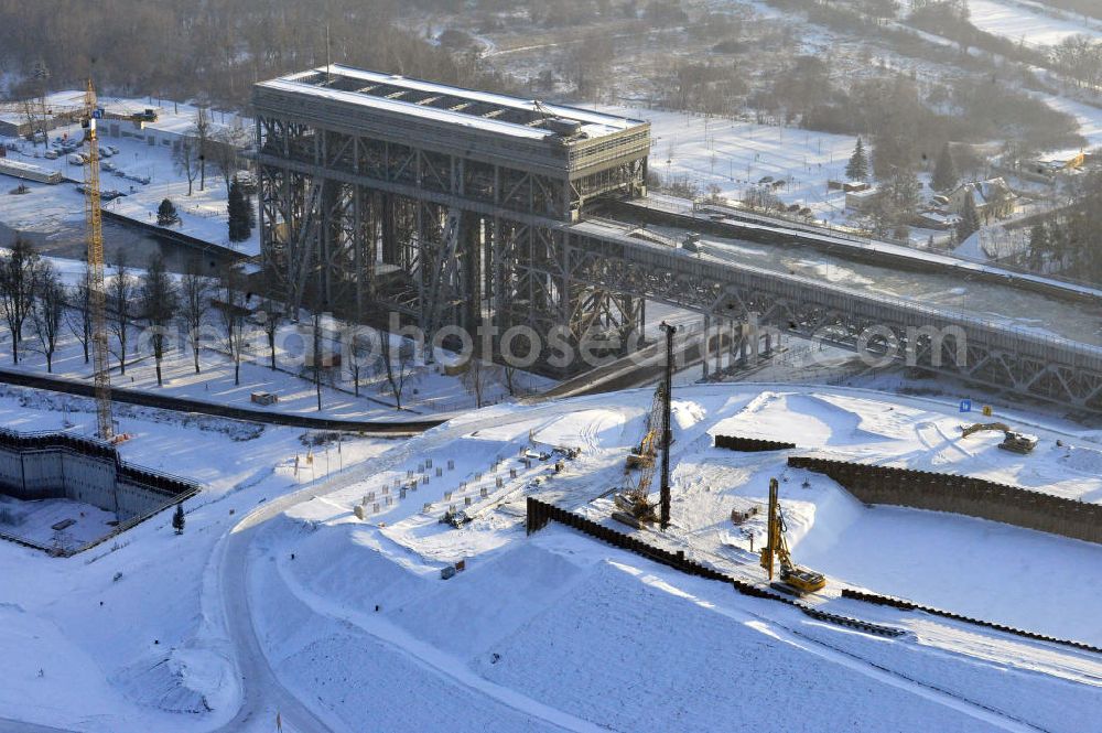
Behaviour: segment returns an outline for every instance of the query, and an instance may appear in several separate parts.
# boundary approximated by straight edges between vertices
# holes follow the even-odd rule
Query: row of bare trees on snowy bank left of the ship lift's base
[[[277,369],[277,336],[287,322],[283,305],[269,298],[253,299],[238,266],[223,268],[216,278],[201,274],[197,263],[183,274],[171,274],[160,254],[154,254],[143,272],[134,274],[120,256],[105,278],[107,328],[110,352],[121,376],[134,352],[134,330],[141,327],[144,345],[153,356],[158,385],[163,385],[163,363],[173,346],[174,327],[185,334],[195,374],[202,373],[199,358],[204,343],[214,341],[234,364],[234,382],[240,385],[241,362],[253,334],[252,324],[264,334],[269,363]],[[91,291],[87,273],[68,288],[48,260],[42,259],[25,239],[0,255],[0,311],[12,343],[12,360],[23,358],[23,346],[33,338],[31,349],[43,354],[46,370],[53,371],[58,343],[67,330],[79,342],[84,362],[89,364],[93,349]],[[367,374],[383,374],[399,409],[403,394],[414,380],[415,349],[409,339],[392,343],[368,330],[347,331],[349,369],[356,395]],[[205,341],[210,339],[210,341]],[[321,343],[320,334],[315,342]],[[321,384],[324,365],[307,362],[314,380]],[[475,380],[465,380],[482,400],[485,377],[489,371],[475,367]],[[508,375],[511,389],[512,371]],[[321,407],[318,408],[321,409]]]

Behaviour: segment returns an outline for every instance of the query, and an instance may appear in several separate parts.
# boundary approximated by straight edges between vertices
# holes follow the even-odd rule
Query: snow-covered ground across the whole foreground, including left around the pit
[[[188,503],[183,537],[165,515],[88,557],[0,543],[0,719],[112,732],[268,731],[277,712],[291,731],[1092,730],[1102,658],[841,600],[838,588],[1099,645],[1102,548],[868,508],[788,470],[785,455],[711,445],[720,432],[793,440],[800,453],[1102,502],[1100,433],[998,414],[1040,438],[1018,456],[991,435],[961,440],[962,417],[943,402],[755,385],[674,398],[673,526],[641,532],[647,541],[760,581],[742,530],[760,547],[764,525],[734,527],[727,515],[761,502],[778,476],[797,560],[830,575],[815,602],[905,636],[815,622],[562,527],[526,538],[530,494],[607,520],[597,497],[624,481],[648,390],[488,408],[409,441],[348,441],[343,473],[300,475],[301,487],[301,431],[131,410],[122,429],[139,438],[123,456],[206,489]],[[0,421],[57,427],[60,407],[9,390]],[[74,408],[68,419],[93,416]],[[526,463],[523,451],[554,448],[580,454],[558,472],[559,456]],[[439,524],[450,505],[477,517]],[[466,570],[441,580],[461,559]]]

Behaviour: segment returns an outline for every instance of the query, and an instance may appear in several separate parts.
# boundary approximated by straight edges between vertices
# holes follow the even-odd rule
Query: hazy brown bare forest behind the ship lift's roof
[[[207,97],[244,108],[258,79],[334,60],[442,82],[498,86],[473,60],[453,57],[408,30],[403,0],[0,0],[0,71],[34,93],[33,65],[55,88],[93,73],[104,91],[176,99]],[[328,44],[326,40],[328,39]],[[30,96],[30,95],[26,95]]]

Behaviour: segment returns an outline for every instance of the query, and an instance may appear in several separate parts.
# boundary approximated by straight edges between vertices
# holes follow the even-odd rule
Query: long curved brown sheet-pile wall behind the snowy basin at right
[[[865,504],[950,511],[1102,543],[1102,506],[954,474],[790,456],[788,465],[829,476]]]

